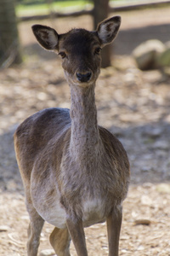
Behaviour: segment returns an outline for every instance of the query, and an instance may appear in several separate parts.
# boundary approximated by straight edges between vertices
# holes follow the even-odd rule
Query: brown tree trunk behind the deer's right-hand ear
[[[109,0],[94,0],[94,29],[99,22],[105,20],[109,15]],[[102,49],[101,67],[111,66],[111,45],[106,45]]]

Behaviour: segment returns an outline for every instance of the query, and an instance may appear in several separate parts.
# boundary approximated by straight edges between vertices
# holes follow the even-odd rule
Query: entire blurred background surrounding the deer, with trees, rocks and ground
[[[163,0],[0,0],[0,255],[26,255],[14,131],[42,108],[70,108],[60,59],[37,44],[31,26],[94,30],[113,15],[122,26],[102,50],[96,105],[99,125],[121,140],[131,164],[120,255],[170,255],[170,1]],[[52,229],[42,231],[42,256],[54,255]],[[86,234],[89,255],[108,255],[105,224]]]

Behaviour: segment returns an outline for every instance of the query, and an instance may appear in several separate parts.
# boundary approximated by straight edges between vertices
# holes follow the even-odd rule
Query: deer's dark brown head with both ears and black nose
[[[72,29],[58,34],[53,28],[42,25],[32,26],[32,31],[43,48],[58,52],[68,83],[84,87],[94,84],[98,78],[100,51],[116,38],[120,25],[121,17],[115,16],[99,23],[93,32]]]

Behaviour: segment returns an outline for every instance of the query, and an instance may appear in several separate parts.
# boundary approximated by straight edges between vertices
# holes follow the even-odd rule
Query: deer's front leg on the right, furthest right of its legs
[[[107,218],[107,234],[109,241],[109,256],[118,256],[119,254],[119,237],[122,225],[122,207],[118,206],[113,209]]]

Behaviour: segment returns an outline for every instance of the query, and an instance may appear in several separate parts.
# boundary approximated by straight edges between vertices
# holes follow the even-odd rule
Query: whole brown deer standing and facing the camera
[[[121,18],[99,23],[96,31],[58,34],[32,26],[43,48],[59,52],[71,89],[71,111],[47,108],[26,119],[14,134],[15,152],[30,215],[27,253],[36,256],[44,220],[54,225],[50,242],[58,256],[69,256],[70,242],[87,256],[84,227],[107,223],[109,255],[118,255],[122,201],[129,163],[122,144],[97,124],[94,87],[100,50],[110,44]]]

